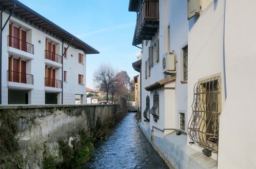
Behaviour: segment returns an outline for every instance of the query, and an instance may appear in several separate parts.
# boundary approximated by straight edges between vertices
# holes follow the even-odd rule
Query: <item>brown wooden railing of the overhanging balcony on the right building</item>
[[[136,35],[141,31],[144,20],[159,20],[159,1],[144,0],[137,14]]]

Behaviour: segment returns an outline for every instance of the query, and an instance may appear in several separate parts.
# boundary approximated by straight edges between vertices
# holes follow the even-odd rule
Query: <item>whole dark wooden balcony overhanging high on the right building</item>
[[[159,28],[159,1],[144,0],[137,12],[136,28],[132,45],[139,45],[142,40],[151,40]]]

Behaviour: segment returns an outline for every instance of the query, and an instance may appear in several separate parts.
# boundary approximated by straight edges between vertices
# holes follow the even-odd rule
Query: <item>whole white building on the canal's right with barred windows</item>
[[[256,167],[255,5],[129,1],[137,13],[132,45],[142,48],[138,124],[168,165]]]

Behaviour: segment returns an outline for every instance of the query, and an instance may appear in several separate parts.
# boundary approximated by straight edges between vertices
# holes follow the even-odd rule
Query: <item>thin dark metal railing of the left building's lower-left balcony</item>
[[[26,83],[30,85],[33,85],[34,83],[33,75],[9,70],[7,71],[7,81]]]

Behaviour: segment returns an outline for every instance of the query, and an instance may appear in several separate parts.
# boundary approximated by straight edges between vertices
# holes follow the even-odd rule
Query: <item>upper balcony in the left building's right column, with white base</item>
[[[45,64],[54,68],[61,68],[62,56],[45,50]]]

